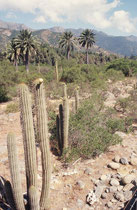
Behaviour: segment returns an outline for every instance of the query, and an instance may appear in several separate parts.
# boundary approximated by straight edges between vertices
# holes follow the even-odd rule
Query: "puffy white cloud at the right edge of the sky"
[[[114,12],[114,15],[110,18],[110,21],[113,26],[120,31],[126,33],[137,32],[136,21],[132,20],[129,16],[129,13],[124,10]]]

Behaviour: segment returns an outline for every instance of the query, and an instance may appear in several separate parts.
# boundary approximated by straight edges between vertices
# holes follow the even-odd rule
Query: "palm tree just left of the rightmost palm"
[[[71,31],[66,31],[63,33],[59,40],[59,47],[64,48],[67,53],[67,59],[69,60],[70,51],[74,50],[74,39]]]

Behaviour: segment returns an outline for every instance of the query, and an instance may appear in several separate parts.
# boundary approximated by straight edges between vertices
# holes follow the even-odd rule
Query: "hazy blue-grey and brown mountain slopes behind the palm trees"
[[[19,30],[26,29],[27,26],[16,23],[6,23],[0,21],[0,48],[4,48],[7,42],[19,33]],[[61,33],[64,31],[72,31],[72,33],[78,37],[83,31],[80,29],[62,27],[52,27],[49,29],[41,29],[33,31],[34,35],[37,35],[39,39],[44,42],[48,42],[51,46],[58,46],[58,40]],[[96,34],[96,45],[92,51],[102,52],[108,51],[111,53],[120,54],[123,56],[137,55],[137,37],[136,36],[110,36],[101,31],[94,31]],[[100,49],[102,48],[102,49]]]

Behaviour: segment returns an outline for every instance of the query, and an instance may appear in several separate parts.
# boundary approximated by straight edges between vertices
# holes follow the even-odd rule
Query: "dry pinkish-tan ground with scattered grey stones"
[[[128,97],[134,81],[110,84],[105,105],[115,106],[119,97]],[[25,166],[20,127],[20,114],[5,114],[7,104],[0,105],[0,175],[10,180],[6,139],[9,131],[16,134],[22,185],[25,192]],[[135,125],[134,125],[135,126]],[[111,146],[96,159],[62,164],[52,154],[51,209],[53,210],[102,210],[122,209],[132,197],[137,185],[137,135],[117,132],[121,144]],[[40,151],[38,151],[40,163]],[[39,189],[41,167],[39,164]]]

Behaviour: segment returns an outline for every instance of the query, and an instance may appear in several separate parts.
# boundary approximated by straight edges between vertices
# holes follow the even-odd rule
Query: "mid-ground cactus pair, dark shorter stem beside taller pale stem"
[[[63,151],[68,152],[68,131],[69,131],[69,100],[67,96],[67,86],[63,89],[63,106],[59,106],[59,115],[57,115],[57,138],[60,154]]]

